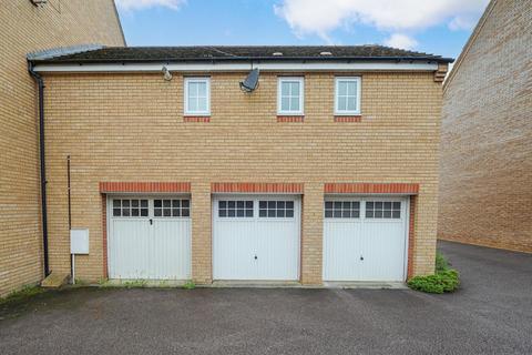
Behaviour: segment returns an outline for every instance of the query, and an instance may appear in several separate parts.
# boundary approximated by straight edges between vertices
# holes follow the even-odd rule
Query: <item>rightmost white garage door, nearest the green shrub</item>
[[[405,281],[407,199],[325,201],[324,281]]]

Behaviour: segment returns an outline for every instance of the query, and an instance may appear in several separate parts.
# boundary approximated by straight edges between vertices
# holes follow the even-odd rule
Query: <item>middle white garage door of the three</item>
[[[216,196],[214,278],[298,280],[299,231],[298,196]]]

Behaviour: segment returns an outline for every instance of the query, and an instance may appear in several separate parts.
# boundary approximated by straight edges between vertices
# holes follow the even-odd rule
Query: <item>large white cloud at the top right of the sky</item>
[[[275,13],[297,36],[317,34],[330,41],[330,32],[361,22],[380,31],[422,30],[441,23],[464,29],[489,0],[282,0]],[[470,20],[467,20],[470,19]]]

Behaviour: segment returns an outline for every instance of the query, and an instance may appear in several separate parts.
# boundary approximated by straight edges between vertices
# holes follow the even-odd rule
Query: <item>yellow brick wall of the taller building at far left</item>
[[[112,0],[0,6],[0,296],[42,277],[37,90],[25,55],[82,43],[123,45]]]

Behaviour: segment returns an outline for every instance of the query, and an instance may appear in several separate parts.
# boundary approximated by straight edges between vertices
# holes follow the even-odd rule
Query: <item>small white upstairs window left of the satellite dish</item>
[[[211,115],[209,78],[185,78],[185,115]]]

